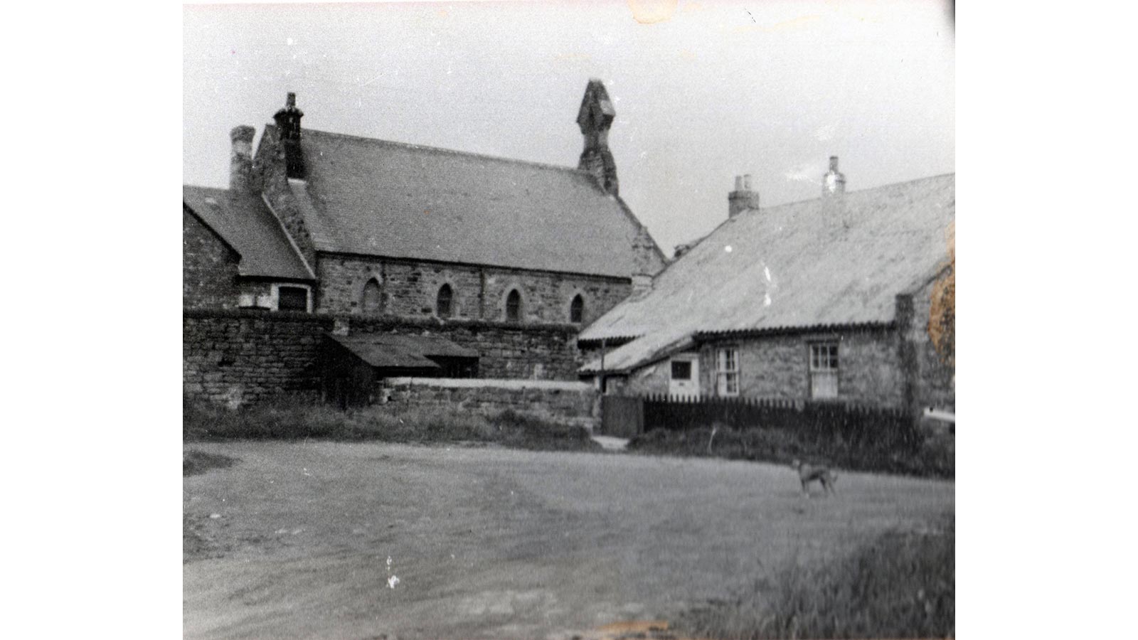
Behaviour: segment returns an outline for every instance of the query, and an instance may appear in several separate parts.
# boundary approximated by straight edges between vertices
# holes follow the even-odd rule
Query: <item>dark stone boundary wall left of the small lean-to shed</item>
[[[315,399],[323,331],[333,319],[248,310],[182,312],[182,391],[239,405],[287,393]]]

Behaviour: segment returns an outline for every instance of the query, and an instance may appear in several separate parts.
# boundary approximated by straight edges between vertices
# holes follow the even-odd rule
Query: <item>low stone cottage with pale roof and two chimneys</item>
[[[582,377],[610,394],[954,407],[929,327],[955,175],[846,192],[831,158],[822,197],[774,207],[749,182],[649,290],[580,333]]]

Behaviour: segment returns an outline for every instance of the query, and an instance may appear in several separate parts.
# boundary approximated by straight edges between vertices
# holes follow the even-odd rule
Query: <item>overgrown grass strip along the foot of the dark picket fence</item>
[[[826,463],[852,471],[902,474],[953,478],[956,475],[951,443],[929,441],[917,450],[890,449],[881,443],[853,446],[834,440],[808,440],[787,429],[711,428],[653,429],[628,442],[628,451],[651,456],[684,456],[760,460],[790,463],[792,460]]]

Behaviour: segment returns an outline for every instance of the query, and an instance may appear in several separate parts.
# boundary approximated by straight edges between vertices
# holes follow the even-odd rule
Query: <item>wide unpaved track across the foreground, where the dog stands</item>
[[[843,473],[838,497],[803,500],[791,469],[753,462],[189,448],[240,462],[183,482],[187,520],[205,539],[183,565],[188,639],[567,639],[674,620],[794,558],[954,510],[951,483]]]

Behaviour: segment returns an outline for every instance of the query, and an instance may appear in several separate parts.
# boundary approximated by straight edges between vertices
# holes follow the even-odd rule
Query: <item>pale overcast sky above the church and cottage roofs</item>
[[[736,174],[766,206],[816,197],[831,155],[849,190],[955,171],[938,0],[187,6],[183,60],[183,180],[209,187],[288,91],[305,128],[576,166],[601,79],[620,195],[668,255]]]

